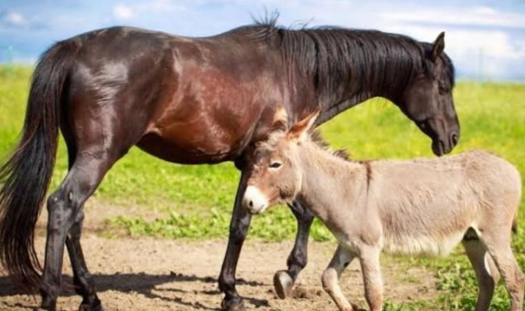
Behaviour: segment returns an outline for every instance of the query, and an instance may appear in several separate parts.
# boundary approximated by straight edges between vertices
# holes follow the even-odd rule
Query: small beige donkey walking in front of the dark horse
[[[476,310],[488,310],[499,274],[511,309],[522,310],[524,274],[510,249],[521,196],[517,169],[484,151],[417,160],[343,160],[307,131],[312,114],[258,144],[242,205],[251,214],[304,202],[338,248],[323,273],[340,310],[353,310],[338,285],[359,258],[370,309],[382,310],[379,253],[445,255],[462,242],[479,283]]]

